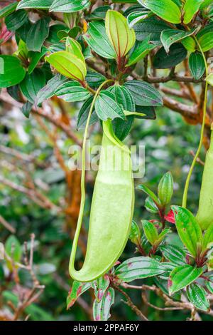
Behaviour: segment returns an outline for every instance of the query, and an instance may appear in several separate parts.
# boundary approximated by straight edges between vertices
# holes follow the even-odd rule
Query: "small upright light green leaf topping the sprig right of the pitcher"
[[[165,206],[170,203],[173,196],[173,176],[171,172],[166,172],[158,184],[158,198],[160,203]]]

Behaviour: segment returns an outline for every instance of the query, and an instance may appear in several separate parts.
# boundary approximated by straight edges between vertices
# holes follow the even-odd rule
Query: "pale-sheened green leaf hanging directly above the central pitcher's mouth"
[[[97,115],[103,121],[107,121],[108,118],[111,120],[114,118],[125,119],[123,108],[119,103],[116,103],[114,94],[107,90],[99,93],[94,106]]]

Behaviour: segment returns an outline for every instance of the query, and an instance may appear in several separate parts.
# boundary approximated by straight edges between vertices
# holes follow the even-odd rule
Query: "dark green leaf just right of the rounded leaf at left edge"
[[[45,86],[45,74],[39,68],[36,68],[30,75],[27,73],[26,77],[20,83],[21,92],[30,103],[35,102],[38,91],[43,86]]]

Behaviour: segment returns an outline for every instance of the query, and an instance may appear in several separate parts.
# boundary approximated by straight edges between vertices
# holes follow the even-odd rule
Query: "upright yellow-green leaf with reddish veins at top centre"
[[[133,29],[129,29],[126,18],[118,11],[109,10],[105,26],[117,58],[126,56],[136,41],[136,34]]]

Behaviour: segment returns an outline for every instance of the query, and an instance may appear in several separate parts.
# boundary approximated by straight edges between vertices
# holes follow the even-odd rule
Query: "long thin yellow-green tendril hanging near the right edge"
[[[206,76],[208,75],[208,66],[207,66],[207,61],[204,55],[204,52],[202,51],[202,48],[200,46],[200,43],[197,41],[197,38],[195,37],[195,41],[197,43],[197,46],[199,46],[200,48],[200,52],[202,53],[202,57],[204,59],[204,64],[205,64],[205,69],[206,69]],[[203,117],[202,117],[202,128],[201,128],[201,132],[200,132],[200,143],[199,146],[197,148],[197,153],[195,154],[195,157],[192,161],[192,165],[190,167],[190,171],[187,175],[187,180],[185,182],[185,188],[184,188],[184,192],[183,192],[183,196],[182,196],[182,207],[186,207],[187,206],[187,194],[188,194],[188,189],[189,189],[189,185],[190,185],[190,178],[192,176],[192,172],[193,169],[195,168],[195,164],[197,162],[197,158],[200,155],[200,150],[202,148],[202,141],[204,138],[204,127],[205,127],[205,120],[206,120],[206,115],[207,115],[207,91],[208,91],[208,83],[205,83],[205,93],[204,93],[204,105],[203,105]]]

